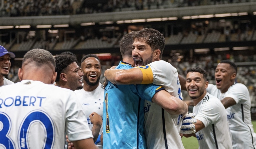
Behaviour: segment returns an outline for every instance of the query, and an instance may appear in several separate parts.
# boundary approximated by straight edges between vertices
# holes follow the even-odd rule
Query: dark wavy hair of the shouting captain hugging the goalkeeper
[[[134,37],[133,40],[138,39],[139,41],[145,40],[145,42],[150,45],[152,51],[159,49],[161,51],[160,53],[160,59],[162,59],[163,56],[163,50],[165,45],[165,38],[162,33],[155,29],[142,29],[141,31],[138,31]]]

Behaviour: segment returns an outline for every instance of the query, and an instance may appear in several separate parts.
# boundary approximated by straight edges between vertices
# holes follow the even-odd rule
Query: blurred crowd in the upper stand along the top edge
[[[250,2],[254,0],[2,0],[0,16],[75,15]]]

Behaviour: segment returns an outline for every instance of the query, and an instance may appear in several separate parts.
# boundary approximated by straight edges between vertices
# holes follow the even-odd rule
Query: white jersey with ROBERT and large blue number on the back
[[[64,148],[65,132],[93,137],[73,91],[32,80],[0,88],[0,128],[6,148]]]

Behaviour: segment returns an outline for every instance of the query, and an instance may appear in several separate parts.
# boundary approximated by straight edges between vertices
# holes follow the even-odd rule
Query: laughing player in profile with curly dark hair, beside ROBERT
[[[62,88],[71,89],[72,91],[82,89],[82,76],[83,73],[80,71],[77,65],[77,58],[68,55],[56,55],[56,85]]]

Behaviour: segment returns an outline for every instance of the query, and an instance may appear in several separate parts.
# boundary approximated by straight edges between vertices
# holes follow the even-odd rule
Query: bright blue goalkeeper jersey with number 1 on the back
[[[116,69],[133,66],[121,61]],[[144,100],[151,101],[161,86],[115,85],[105,87],[103,108],[103,148],[146,148]]]

